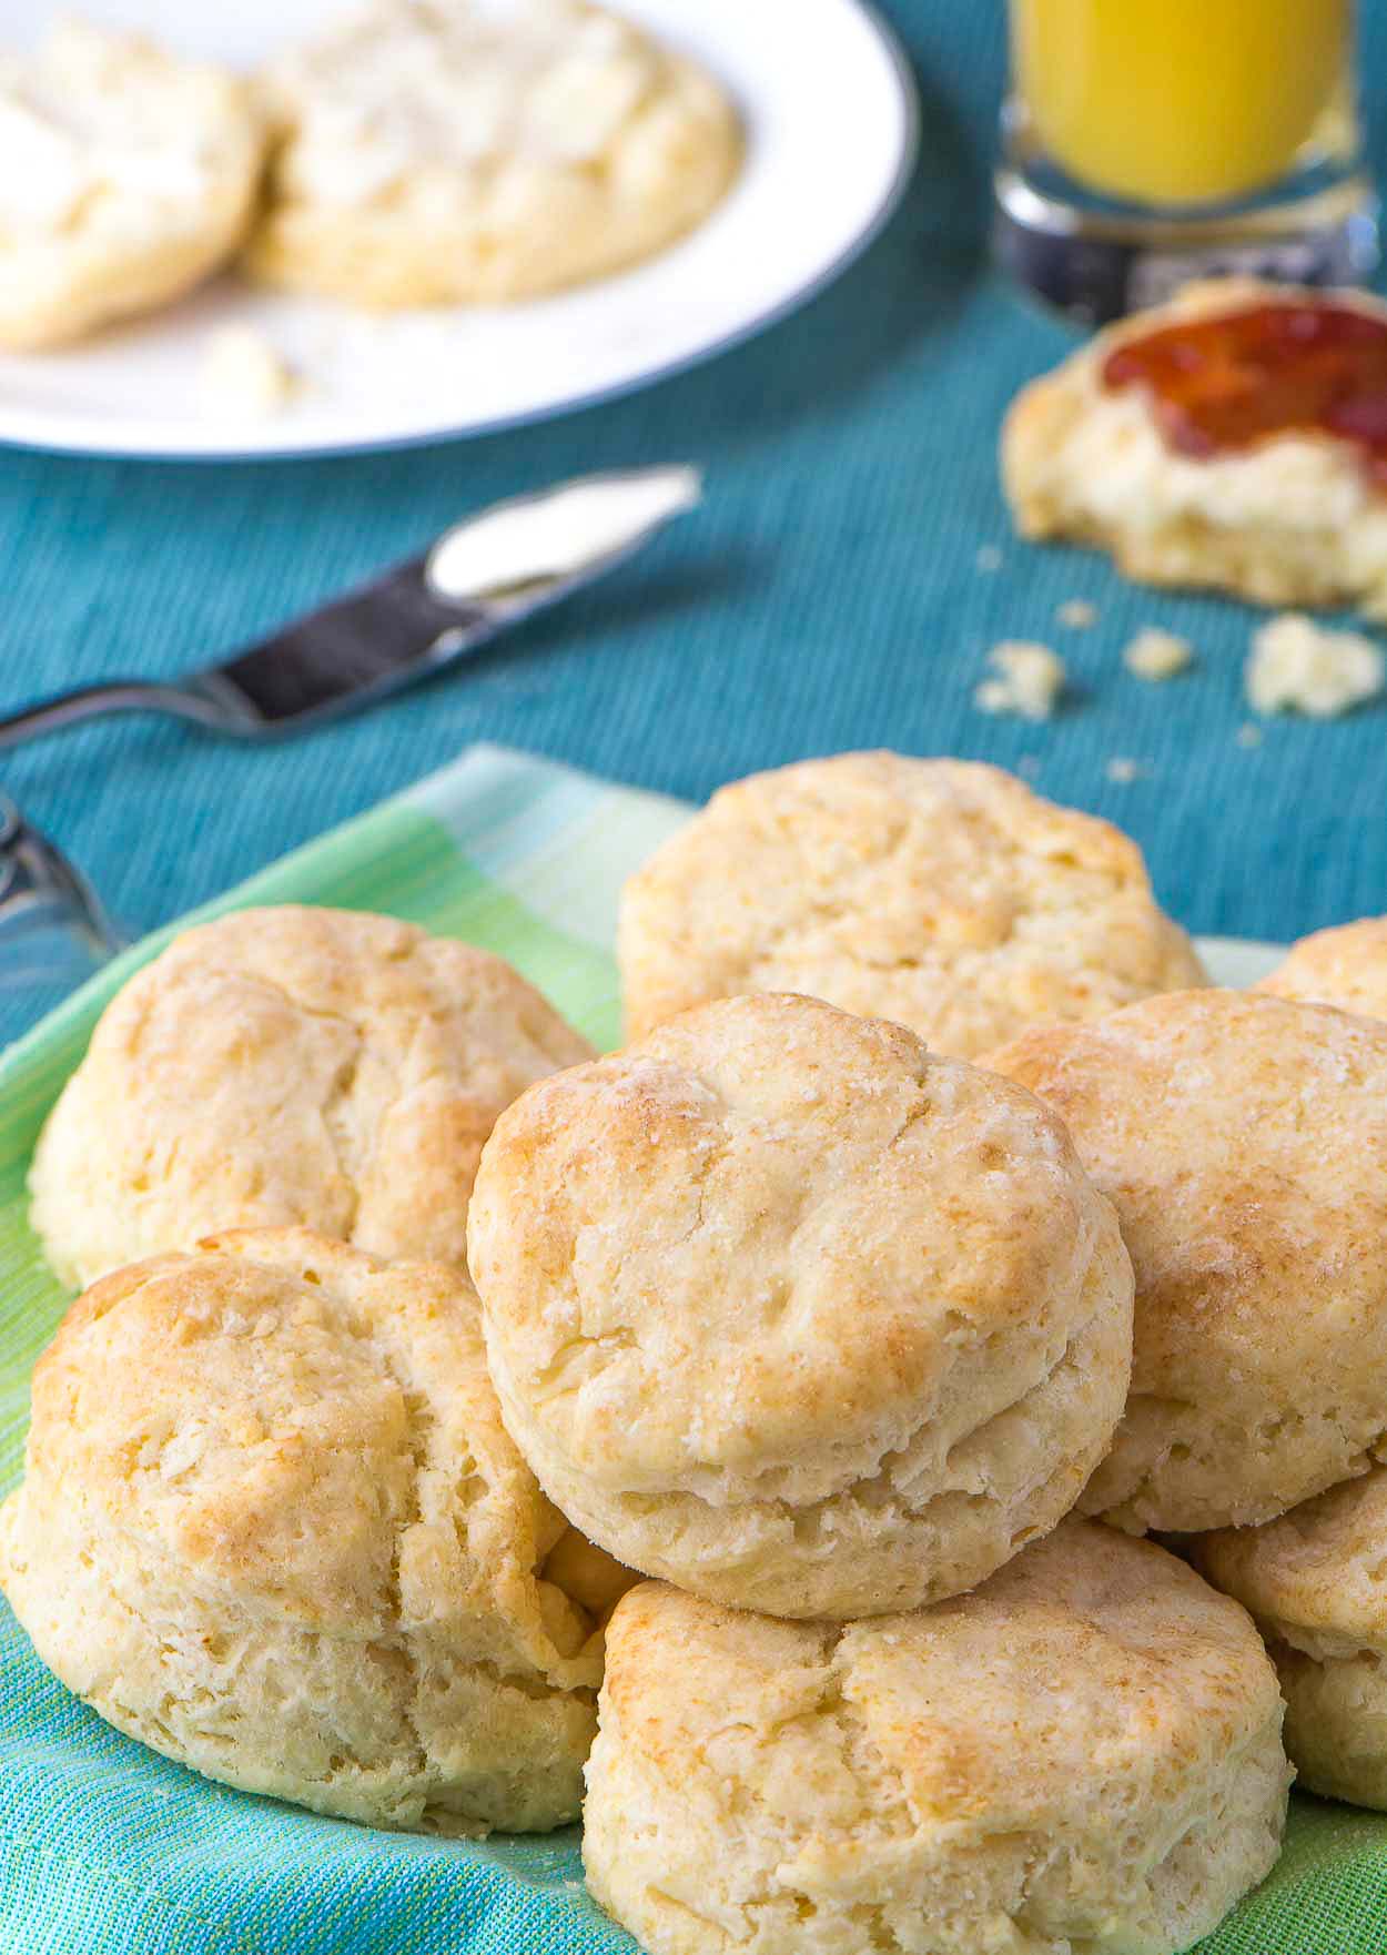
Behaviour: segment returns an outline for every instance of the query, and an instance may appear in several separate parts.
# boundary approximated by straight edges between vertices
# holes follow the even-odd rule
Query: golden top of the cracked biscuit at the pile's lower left
[[[546,1566],[567,1525],[501,1425],[460,1271],[309,1230],[117,1271],[37,1367],[23,1498],[135,1542],[170,1607],[601,1677],[593,1617]]]

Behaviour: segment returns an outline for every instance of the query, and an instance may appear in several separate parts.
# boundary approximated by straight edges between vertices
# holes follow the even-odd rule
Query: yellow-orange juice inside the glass
[[[1088,190],[1207,205],[1281,178],[1334,109],[1352,0],[1011,0],[1015,86]]]

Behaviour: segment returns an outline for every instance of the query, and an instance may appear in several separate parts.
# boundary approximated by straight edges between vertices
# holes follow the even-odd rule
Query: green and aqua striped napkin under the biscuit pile
[[[385,909],[511,958],[599,1046],[618,1030],[622,878],[685,811],[499,749],[229,897]],[[194,919],[186,919],[194,921]],[[65,1296],[27,1232],[33,1138],[147,938],[0,1062],[0,1486]],[[0,1955],[618,1955],[577,1834],[485,1844],[323,1820],[198,1779],[88,1713],[0,1609]],[[1272,1879],[1207,1955],[1387,1955],[1387,1818],[1297,1799]],[[857,1951],[845,1951],[857,1955]],[[1121,1951],[1113,1951],[1121,1955]]]

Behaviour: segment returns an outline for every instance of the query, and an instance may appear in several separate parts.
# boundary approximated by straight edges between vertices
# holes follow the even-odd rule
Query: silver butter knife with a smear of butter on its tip
[[[106,714],[280,739],[456,665],[604,577],[702,495],[696,469],[587,475],[497,502],[348,596],[166,684],[113,678],[0,717],[0,751]]]

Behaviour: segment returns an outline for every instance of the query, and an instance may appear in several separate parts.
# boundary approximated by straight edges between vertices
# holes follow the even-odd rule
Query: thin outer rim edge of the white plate
[[[861,16],[863,23],[876,37],[886,65],[890,68],[902,115],[900,129],[900,152],[896,156],[896,166],[890,180],[882,186],[882,194],[867,217],[867,221],[857,229],[857,233],[847,240],[847,244],[820,270],[796,285],[794,291],[784,293],[775,305],[765,307],[751,319],[741,321],[741,325],[732,326],[728,332],[718,334],[704,346],[696,346],[687,354],[679,354],[675,360],[665,360],[659,366],[646,368],[640,373],[632,373],[618,381],[608,381],[603,387],[595,387],[589,393],[571,395],[563,401],[550,401],[542,407],[520,409],[518,413],[497,414],[487,420],[466,420],[440,424],[426,430],[413,430],[409,434],[380,434],[366,438],[352,436],[305,436],[297,442],[286,442],[284,446],[256,446],[239,448],[235,444],[217,446],[168,446],[166,442],[153,440],[141,446],[129,446],[125,442],[98,442],[94,444],[90,434],[84,438],[80,432],[65,438],[59,430],[57,434],[35,434],[25,432],[25,411],[20,409],[18,414],[6,414],[0,409],[0,450],[18,450],[22,454],[35,456],[82,456],[86,459],[100,461],[160,461],[160,463],[260,463],[260,461],[315,461],[333,456],[383,456],[383,454],[405,454],[415,448],[438,448],[446,442],[481,440],[491,434],[515,434],[520,428],[540,426],[546,420],[559,420],[567,414],[583,414],[589,409],[604,407],[608,401],[622,401],[628,395],[642,393],[646,387],[659,387],[667,379],[677,379],[681,373],[689,373],[698,366],[706,366],[712,360],[720,360],[724,354],[734,352],[738,346],[747,344],[747,340],[759,338],[759,334],[769,332],[773,326],[781,325],[792,313],[802,311],[812,305],[820,293],[828,291],[829,285],[837,283],[845,272],[876,242],[892,215],[896,213],[906,188],[916,172],[916,162],[919,158],[919,135],[921,135],[921,109],[919,109],[919,90],[916,86],[916,72],[906,53],[904,41],[896,33],[896,27],[886,20],[880,10],[878,0],[841,0],[843,6]],[[33,414],[33,411],[29,411]],[[33,414],[33,418],[43,420],[45,414]],[[8,422],[8,424],[6,424]],[[78,422],[78,428],[82,422]],[[16,430],[16,432],[10,432]]]

